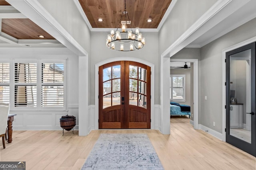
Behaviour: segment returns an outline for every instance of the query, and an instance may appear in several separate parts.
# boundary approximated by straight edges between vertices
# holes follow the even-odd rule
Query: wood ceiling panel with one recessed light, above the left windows
[[[2,19],[2,32],[16,39],[54,39],[29,19]],[[38,35],[44,35],[44,38]]]

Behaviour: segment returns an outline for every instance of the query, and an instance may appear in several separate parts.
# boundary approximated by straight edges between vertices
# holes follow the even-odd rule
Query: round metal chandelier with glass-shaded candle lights
[[[123,17],[125,18],[124,21],[122,21]],[[126,11],[126,0],[124,0],[124,12],[122,12],[118,24],[118,26],[122,25],[122,30],[118,31],[118,27],[116,28],[116,32],[114,29],[111,29],[106,42],[108,48],[116,51],[134,51],[142,49],[145,45],[145,38],[142,37],[142,33],[140,33],[138,27],[135,28],[135,32],[132,31],[130,22],[128,12]],[[130,30],[128,30],[127,25],[130,25]]]

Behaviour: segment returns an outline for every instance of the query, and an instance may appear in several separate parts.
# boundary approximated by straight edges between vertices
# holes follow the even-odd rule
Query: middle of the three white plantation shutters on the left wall
[[[37,64],[14,63],[14,107],[37,106]]]

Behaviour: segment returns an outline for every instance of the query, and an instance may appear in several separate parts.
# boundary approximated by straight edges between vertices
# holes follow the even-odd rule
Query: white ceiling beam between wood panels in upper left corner
[[[12,6],[2,5],[0,6],[0,18],[27,18],[22,13],[20,13],[18,10],[16,10]]]

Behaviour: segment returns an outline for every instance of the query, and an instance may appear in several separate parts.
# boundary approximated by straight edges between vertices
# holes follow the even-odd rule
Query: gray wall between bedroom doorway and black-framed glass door
[[[201,48],[199,124],[222,133],[222,51],[255,37],[255,27],[256,18]]]

